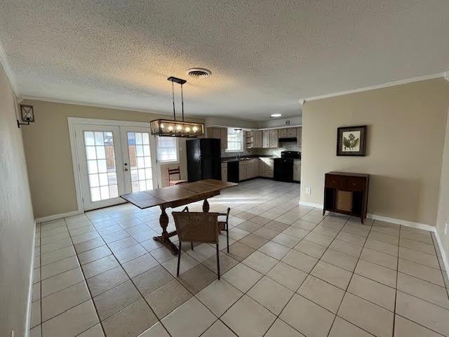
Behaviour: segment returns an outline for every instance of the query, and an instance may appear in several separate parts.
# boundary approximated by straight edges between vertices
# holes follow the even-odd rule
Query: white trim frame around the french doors
[[[76,204],[78,206],[77,211],[83,213],[83,197],[81,193],[81,176],[79,171],[79,157],[76,151],[76,138],[75,138],[75,126],[79,124],[98,124],[98,125],[110,125],[110,126],[136,126],[149,128],[149,122],[143,121],[114,121],[111,119],[90,119],[90,118],[79,118],[79,117],[67,117],[67,123],[69,126],[69,139],[70,139],[70,151],[72,154],[72,164],[73,164],[73,176],[75,183],[75,193],[76,193]],[[154,136],[150,136],[150,142],[155,141]]]

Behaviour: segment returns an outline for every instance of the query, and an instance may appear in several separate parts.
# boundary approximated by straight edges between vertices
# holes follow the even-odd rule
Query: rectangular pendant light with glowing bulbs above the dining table
[[[171,93],[173,100],[173,120],[170,119],[154,119],[149,122],[152,135],[160,137],[183,137],[196,138],[204,136],[204,124],[184,121],[184,96],[182,95],[182,85],[187,81],[185,79],[178,79],[177,77],[168,77],[171,82]],[[181,86],[181,107],[182,107],[182,121],[176,120],[175,114],[175,83]]]

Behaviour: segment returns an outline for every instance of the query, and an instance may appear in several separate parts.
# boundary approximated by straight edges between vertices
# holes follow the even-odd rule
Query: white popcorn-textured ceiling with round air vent
[[[2,0],[22,96],[265,120],[299,100],[449,70],[448,0]],[[209,79],[191,79],[206,67]]]

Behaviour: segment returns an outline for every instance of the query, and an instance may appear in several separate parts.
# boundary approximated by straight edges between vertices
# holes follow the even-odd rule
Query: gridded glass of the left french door
[[[91,201],[119,197],[111,131],[84,131]]]

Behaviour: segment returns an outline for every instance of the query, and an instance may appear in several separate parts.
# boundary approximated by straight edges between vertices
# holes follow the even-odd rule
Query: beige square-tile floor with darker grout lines
[[[232,208],[221,281],[208,244],[185,245],[175,277],[175,256],[152,239],[159,209],[40,224],[30,336],[449,336],[430,232],[323,217],[298,206],[299,190],[256,179],[210,199],[213,211]]]

